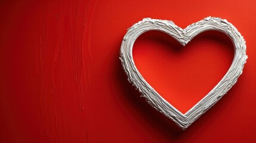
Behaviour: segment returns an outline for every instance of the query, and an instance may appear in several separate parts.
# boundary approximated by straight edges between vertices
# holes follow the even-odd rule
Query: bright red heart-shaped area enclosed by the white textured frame
[[[150,86],[184,114],[227,73],[234,48],[217,31],[203,32],[184,47],[163,32],[150,31],[135,41],[132,55]]]

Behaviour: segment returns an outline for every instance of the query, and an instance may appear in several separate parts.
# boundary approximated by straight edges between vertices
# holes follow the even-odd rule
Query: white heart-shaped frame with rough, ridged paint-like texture
[[[229,36],[233,42],[235,55],[229,70],[209,94],[202,98],[201,101],[185,114],[181,113],[169,104],[169,102],[164,100],[164,98],[162,98],[161,95],[146,82],[134,64],[132,58],[132,46],[138,36],[150,30],[165,32],[180,42],[183,46],[195,38],[195,36],[199,35],[199,33],[207,30],[223,32]],[[246,45],[243,36],[241,36],[236,27],[227,20],[216,17],[204,18],[197,23],[187,26],[186,29],[181,29],[172,21],[144,18],[142,21],[135,23],[128,29],[128,32],[122,41],[120,51],[122,66],[128,76],[129,82],[141,92],[142,96],[146,98],[147,102],[152,105],[152,107],[156,108],[156,110],[163,113],[169,119],[172,119],[182,129],[188,128],[196,119],[198,119],[198,117],[211,108],[212,105],[220,100],[220,98],[232,88],[240,74],[242,74],[243,66],[246,63],[247,58]]]

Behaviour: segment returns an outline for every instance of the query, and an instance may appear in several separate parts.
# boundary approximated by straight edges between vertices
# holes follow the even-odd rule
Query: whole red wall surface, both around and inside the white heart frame
[[[256,142],[255,5],[0,1],[0,142]],[[236,85],[181,130],[128,82],[119,49],[126,29],[144,17],[185,28],[209,15],[236,26],[249,58]],[[133,55],[153,88],[186,113],[229,69],[233,45],[222,33],[206,32],[182,48],[149,32]]]

